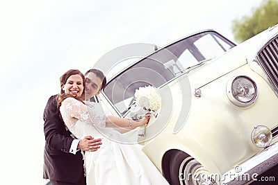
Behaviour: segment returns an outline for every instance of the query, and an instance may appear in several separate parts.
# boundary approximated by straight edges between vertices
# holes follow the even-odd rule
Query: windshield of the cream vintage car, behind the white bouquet
[[[108,82],[104,94],[124,116],[139,87],[152,85],[158,88],[186,69],[222,55],[234,46],[234,43],[214,31],[186,37],[148,55],[120,73]]]

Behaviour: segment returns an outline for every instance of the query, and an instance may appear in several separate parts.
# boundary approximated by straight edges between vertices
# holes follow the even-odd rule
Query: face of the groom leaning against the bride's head
[[[85,75],[85,99],[88,100],[92,96],[99,95],[101,93],[101,78],[97,77],[95,73],[88,73]]]

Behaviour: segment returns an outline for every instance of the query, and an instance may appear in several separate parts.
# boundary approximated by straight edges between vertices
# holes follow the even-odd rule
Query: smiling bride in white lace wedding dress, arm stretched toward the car
[[[65,125],[78,139],[88,135],[103,138],[99,150],[85,152],[87,184],[168,184],[152,161],[137,146],[124,144],[128,143],[127,139],[112,128],[132,130],[147,124],[149,116],[140,122],[106,116],[99,103],[84,101],[83,74],[65,74],[60,78],[61,93],[58,96],[60,116]]]

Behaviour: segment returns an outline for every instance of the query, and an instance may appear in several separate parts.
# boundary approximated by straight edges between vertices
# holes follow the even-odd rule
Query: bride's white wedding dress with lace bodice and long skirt
[[[99,184],[168,184],[138,146],[127,144],[120,132],[105,127],[106,115],[99,103],[84,105],[75,98],[66,98],[60,113],[76,138],[102,138],[96,152],[85,152],[85,172],[88,185]]]

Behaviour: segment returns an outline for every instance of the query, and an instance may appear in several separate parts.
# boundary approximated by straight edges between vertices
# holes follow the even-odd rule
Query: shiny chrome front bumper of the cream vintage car
[[[265,171],[275,165],[278,165],[278,142],[265,148],[265,150],[239,164],[234,169],[224,173],[221,178],[221,184],[240,185],[250,181],[256,181],[258,175],[265,173]]]

